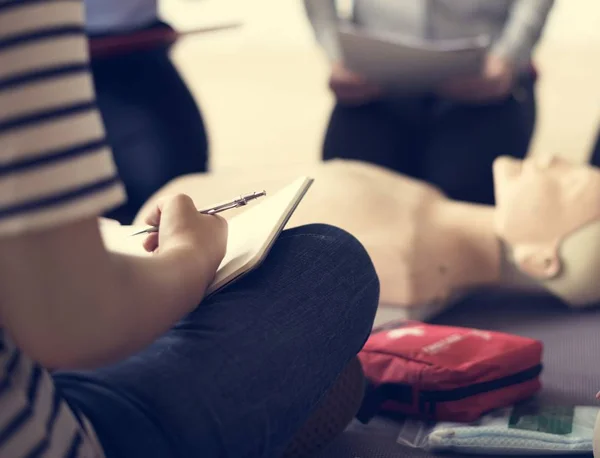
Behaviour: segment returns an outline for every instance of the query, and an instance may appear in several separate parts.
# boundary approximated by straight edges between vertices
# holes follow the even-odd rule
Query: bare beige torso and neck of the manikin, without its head
[[[497,281],[492,209],[470,211],[432,186],[376,166],[332,161],[275,173],[195,175],[172,182],[159,195],[186,193],[203,207],[248,190],[277,190],[300,174],[315,182],[288,227],[319,222],[354,234],[373,259],[382,303],[415,306]]]

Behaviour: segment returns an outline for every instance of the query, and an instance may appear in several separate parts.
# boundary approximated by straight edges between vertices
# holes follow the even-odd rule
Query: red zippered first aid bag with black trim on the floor
[[[415,321],[373,331],[359,353],[369,381],[358,419],[379,411],[471,422],[541,388],[542,343]]]

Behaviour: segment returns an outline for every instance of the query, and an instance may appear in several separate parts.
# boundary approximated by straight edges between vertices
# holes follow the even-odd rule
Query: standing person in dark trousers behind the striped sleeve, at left
[[[131,224],[170,180],[205,172],[200,105],[170,58],[176,32],[157,0],[84,0],[96,100],[127,202],[106,216]],[[133,118],[133,119],[132,119]]]

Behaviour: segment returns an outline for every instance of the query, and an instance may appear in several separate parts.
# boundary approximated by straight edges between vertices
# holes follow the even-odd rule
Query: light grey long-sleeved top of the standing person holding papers
[[[332,60],[341,58],[336,0],[304,0],[317,39]],[[353,0],[353,21],[375,33],[419,39],[488,35],[492,52],[517,66],[531,59],[554,0]]]

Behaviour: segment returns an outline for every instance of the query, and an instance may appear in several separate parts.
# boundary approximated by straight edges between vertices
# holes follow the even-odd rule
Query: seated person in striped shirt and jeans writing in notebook
[[[148,216],[154,256],[108,252],[125,195],[83,17],[0,0],[0,457],[280,456],[370,332],[372,263],[305,226],[203,300],[227,225],[187,196]]]

